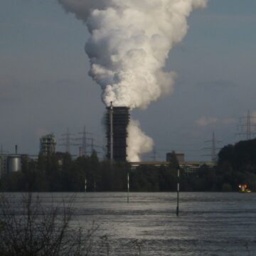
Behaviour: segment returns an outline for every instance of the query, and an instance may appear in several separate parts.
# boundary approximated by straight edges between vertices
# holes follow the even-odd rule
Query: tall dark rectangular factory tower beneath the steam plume
[[[107,107],[107,159],[126,161],[129,107]]]

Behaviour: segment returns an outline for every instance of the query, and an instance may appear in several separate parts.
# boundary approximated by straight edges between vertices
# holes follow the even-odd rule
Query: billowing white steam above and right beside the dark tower
[[[173,90],[176,75],[163,70],[169,51],[186,36],[191,11],[207,0],[58,1],[90,32],[85,46],[90,76],[102,87],[105,105],[145,109]],[[129,152],[137,142],[130,136]],[[135,158],[128,154],[130,161]]]

